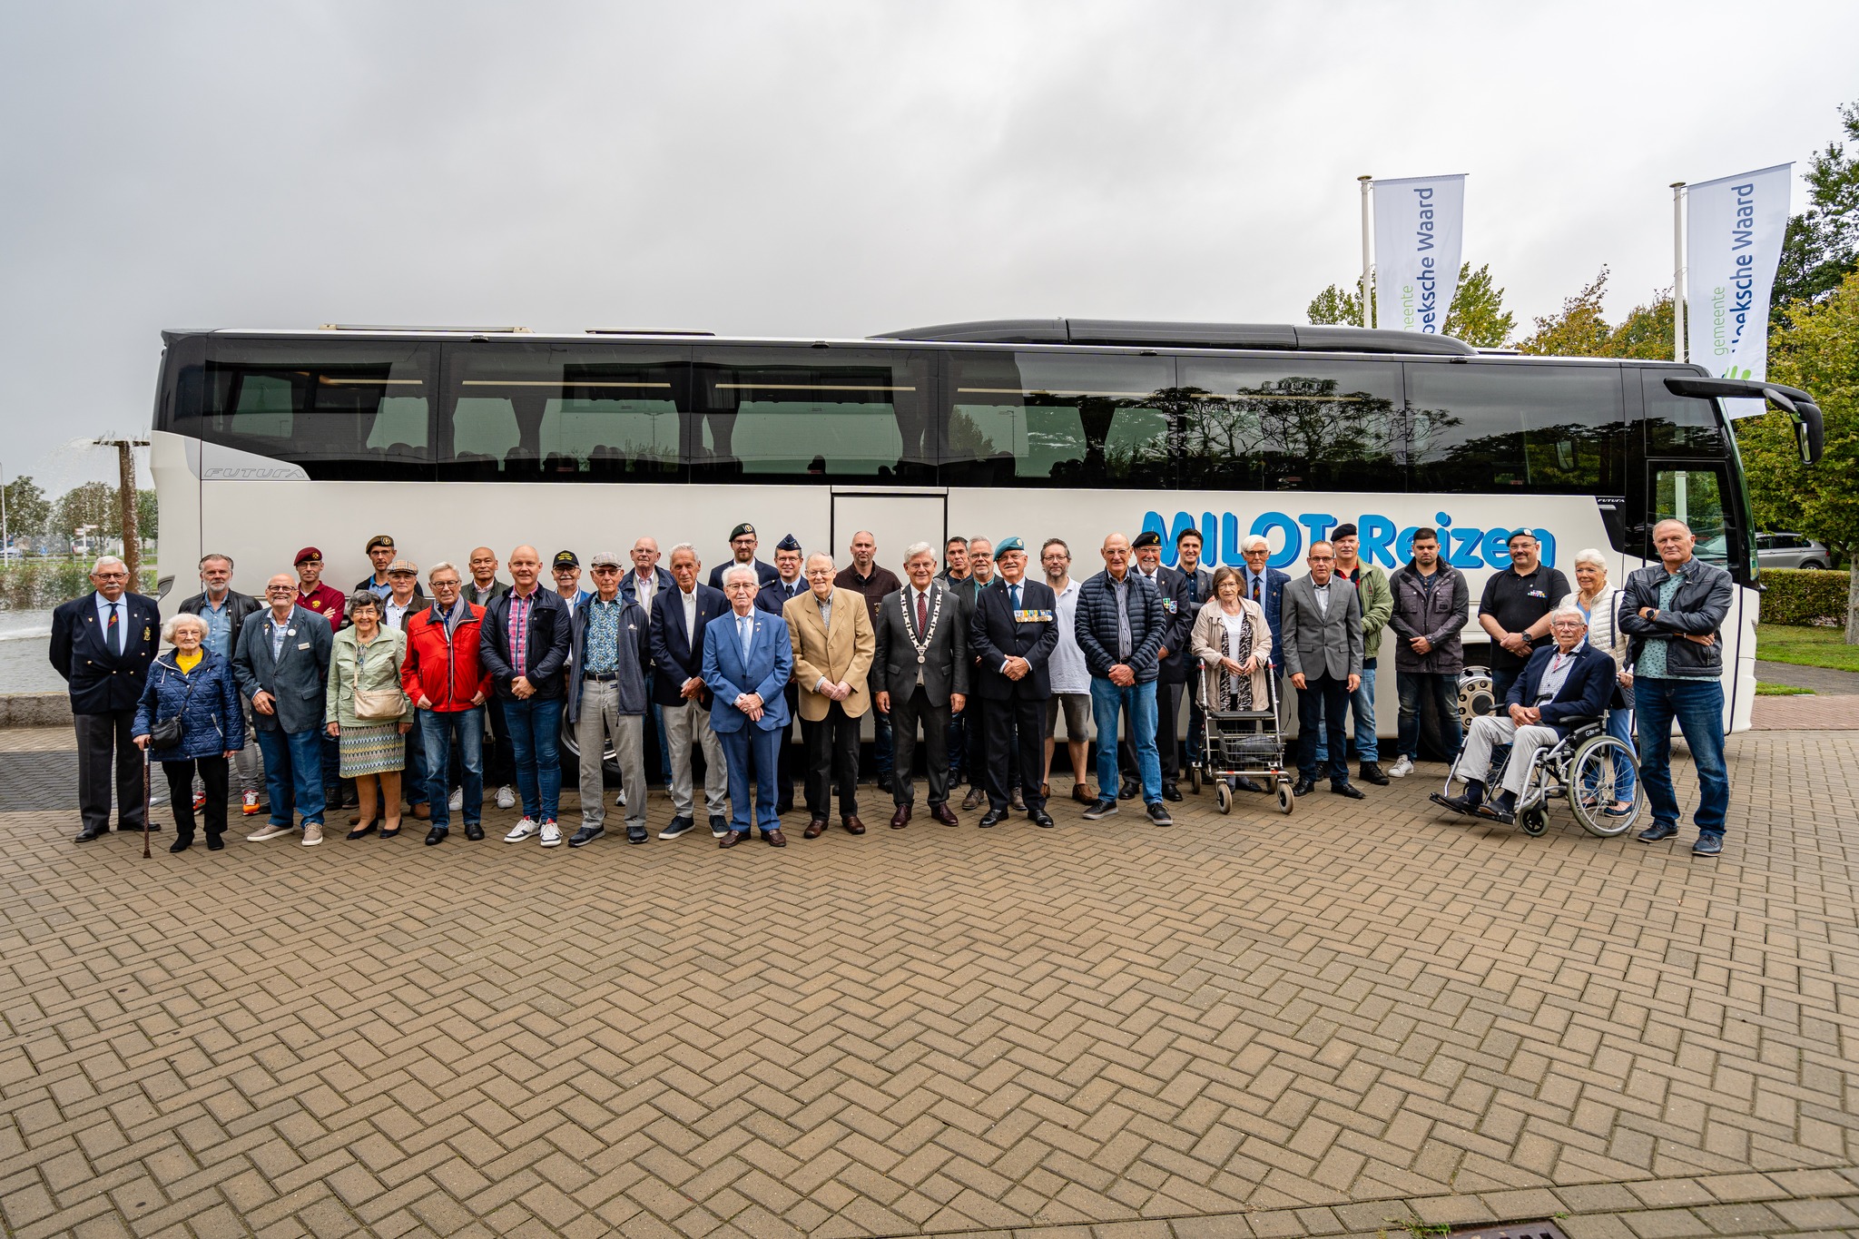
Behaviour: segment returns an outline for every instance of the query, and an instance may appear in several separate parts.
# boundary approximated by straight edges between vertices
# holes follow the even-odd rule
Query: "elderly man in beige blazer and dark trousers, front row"
[[[872,708],[866,674],[877,639],[864,598],[833,585],[833,557],[807,559],[807,593],[781,609],[794,643],[794,684],[799,687],[801,736],[807,741],[807,814],[803,838],[816,840],[833,810],[851,834],[859,821],[859,719]]]

